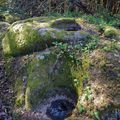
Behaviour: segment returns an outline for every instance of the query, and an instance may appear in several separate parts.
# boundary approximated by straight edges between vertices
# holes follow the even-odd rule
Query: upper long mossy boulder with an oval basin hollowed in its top
[[[44,50],[55,41],[85,44],[88,36],[79,19],[40,17],[11,25],[2,45],[5,55],[19,56]]]

